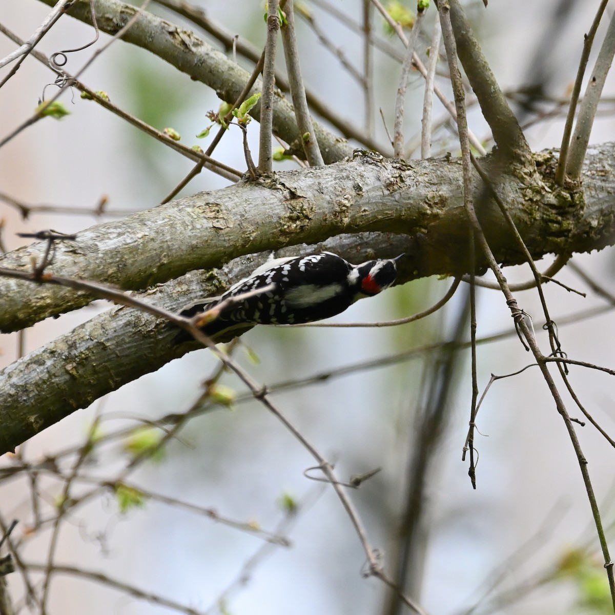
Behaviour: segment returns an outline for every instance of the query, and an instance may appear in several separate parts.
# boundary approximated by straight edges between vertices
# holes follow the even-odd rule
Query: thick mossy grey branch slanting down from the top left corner
[[[41,0],[52,6],[55,0]],[[137,13],[137,8],[117,0],[93,0],[98,28],[107,34],[116,34]],[[90,21],[89,2],[76,2],[67,13],[85,23]],[[237,100],[250,73],[234,64],[224,54],[198,38],[185,28],[143,12],[121,37],[123,41],[143,47],[157,55],[178,70],[188,74],[215,90],[218,97],[228,103]],[[250,95],[260,92],[262,83],[256,82]],[[303,157],[300,132],[295,119],[295,111],[284,95],[276,90],[276,105],[273,117],[273,132],[290,144],[293,153]],[[260,119],[260,105],[256,105],[250,115]],[[320,124],[314,124],[315,137],[325,164],[336,162],[352,154],[352,147],[345,139],[336,137]]]

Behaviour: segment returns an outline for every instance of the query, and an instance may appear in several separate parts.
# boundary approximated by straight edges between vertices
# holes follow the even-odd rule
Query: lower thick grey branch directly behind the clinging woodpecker
[[[403,238],[380,234],[345,236],[322,246],[304,246],[302,252],[335,250],[349,260],[361,262],[373,256],[372,245],[385,246],[386,256],[399,254],[398,237]],[[204,296],[220,294],[267,256],[238,258],[216,271],[192,271],[138,298],[159,308],[179,311]],[[36,289],[32,282],[22,284],[26,284],[26,290]],[[177,333],[178,328],[169,327],[155,315],[114,307],[9,365],[0,374],[0,456],[101,395],[199,347],[196,343],[174,346],[172,340]]]

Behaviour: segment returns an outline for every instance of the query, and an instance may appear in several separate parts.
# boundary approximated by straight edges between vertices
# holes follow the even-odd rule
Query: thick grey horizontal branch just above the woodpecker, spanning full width
[[[613,243],[613,159],[612,143],[592,149],[584,190],[576,193],[555,188],[557,161],[550,153],[536,155],[542,172],[538,183],[500,178],[502,199],[534,259]],[[352,161],[240,182],[93,226],[76,240],[58,244],[51,271],[140,290],[241,255],[315,244],[342,233],[380,231],[410,236],[402,251],[415,272],[412,277],[465,272],[461,185],[460,165],[446,158],[410,165],[357,154]],[[481,215],[499,262],[523,262],[497,208]],[[41,242],[20,248],[1,264],[30,271],[33,260],[41,262],[45,247]],[[28,327],[90,300],[64,288],[0,279],[0,331]]]

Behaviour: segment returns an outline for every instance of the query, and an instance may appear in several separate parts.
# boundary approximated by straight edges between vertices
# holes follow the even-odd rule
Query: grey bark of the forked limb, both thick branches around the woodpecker
[[[539,173],[523,183],[499,177],[498,190],[535,259],[615,242],[615,145],[590,149],[584,184],[557,192],[555,156],[535,156]],[[482,186],[476,183],[477,194]],[[521,261],[496,207],[482,223],[496,258]],[[371,231],[371,232],[367,232]],[[378,231],[378,232],[375,232]],[[277,173],[257,184],[204,192],[117,223],[95,226],[58,248],[52,270],[67,277],[143,288],[232,256],[299,242],[317,242],[351,261],[405,252],[398,282],[467,271],[467,224],[458,161],[412,164],[360,154],[321,169]],[[2,266],[31,267],[35,244],[7,255]],[[289,250],[290,251],[290,248]],[[288,252],[287,251],[287,252]],[[287,253],[285,252],[285,253]],[[263,256],[261,255],[262,259]],[[180,309],[220,292],[253,269],[252,256],[221,271],[191,272],[143,297]],[[480,263],[479,263],[480,266]],[[0,280],[5,330],[84,304],[89,298],[52,286]],[[175,331],[154,317],[114,308],[0,372],[0,454],[122,384],[154,371],[194,346],[173,347]]]

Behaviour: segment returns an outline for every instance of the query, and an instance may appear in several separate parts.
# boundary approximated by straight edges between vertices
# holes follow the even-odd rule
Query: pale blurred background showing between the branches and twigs
[[[265,25],[261,2],[193,3],[240,40],[262,49]],[[465,5],[499,84],[510,92],[515,112],[526,125],[526,138],[534,151],[560,146],[566,100],[576,76],[583,36],[598,4],[598,0],[544,0],[532,2],[530,8],[525,2],[492,0],[487,9],[482,1]],[[303,12],[297,19],[303,77],[331,109],[365,127],[363,89],[339,62],[343,54],[361,71],[363,38],[336,18],[331,7],[353,22],[362,20],[362,2],[331,2],[329,7],[322,0],[298,4],[298,12]],[[27,39],[49,10],[36,0],[2,0],[0,22]],[[210,36],[154,2],[148,10],[194,29],[197,36],[221,48]],[[607,8],[598,30],[588,75],[611,17],[609,11],[612,13],[613,6]],[[435,6],[430,7],[419,44],[424,60],[435,14]],[[371,23],[376,36],[398,53],[402,51],[400,42],[387,32],[383,19],[373,9]],[[317,31],[338,49],[338,55],[322,44]],[[92,36],[91,28],[62,17],[38,48],[50,55],[79,47]],[[101,34],[97,46],[108,39]],[[0,57],[14,49],[12,42],[0,37]],[[92,50],[69,54],[66,69],[76,72]],[[282,68],[281,44],[279,52]],[[252,71],[253,65],[245,58],[239,56],[237,62]],[[440,61],[438,66],[446,73],[445,62]],[[379,109],[391,130],[399,70],[397,60],[375,49],[373,114],[365,130],[369,131],[371,125],[379,143],[387,141]],[[23,63],[0,92],[1,138],[31,116],[44,87],[53,80],[51,71],[33,58]],[[157,129],[173,127],[186,145],[207,147],[207,140],[203,145],[194,135],[210,124],[206,113],[217,110],[220,100],[215,92],[148,52],[116,41],[87,68],[81,80],[92,89],[104,90],[114,104]],[[438,79],[438,84],[451,95],[446,79]],[[49,85],[46,96],[54,90]],[[615,134],[611,113],[614,90],[611,75],[590,143],[607,141]],[[7,251],[30,241],[17,237],[17,232],[47,228],[77,232],[155,207],[192,167],[190,161],[105,109],[82,100],[78,92],[72,100],[66,94],[62,100],[71,112],[69,116],[61,121],[39,121],[0,148],[0,192],[4,196],[30,205],[53,205],[65,212],[33,212],[24,219],[17,207],[0,200],[1,238]],[[423,80],[413,73],[405,112],[408,140],[420,131],[422,101]],[[493,144],[480,109],[477,105],[470,109],[470,129],[490,149]],[[434,103],[434,121],[440,117],[442,106]],[[256,157],[258,124],[252,122],[248,128]],[[459,148],[448,122],[443,121],[434,133],[433,153],[440,156],[449,151],[456,156]],[[215,156],[245,170],[239,130],[231,130],[223,138]],[[284,161],[277,163],[276,170],[295,167],[295,162]],[[202,172],[180,196],[227,185],[227,180]],[[102,198],[107,199],[106,213],[95,215]],[[550,263],[549,259],[545,261],[539,268]],[[615,292],[612,250],[575,256],[574,263]],[[530,277],[526,267],[507,269],[506,274],[511,282]],[[569,269],[558,279],[587,292],[584,298],[556,285],[545,288],[565,351],[574,359],[614,367],[613,315],[605,312],[588,316],[593,308],[607,302]],[[437,301],[449,285],[449,280],[417,280],[373,300],[360,301],[336,320],[371,322],[410,315]],[[351,496],[387,570],[405,570],[399,574],[406,579],[409,595],[427,612],[608,613],[604,600],[589,604],[591,592],[587,588],[595,582],[600,597],[606,577],[581,472],[539,370],[529,368],[514,378],[497,381],[486,395],[477,420],[480,435],[476,435],[475,446],[480,460],[477,490],[473,490],[467,475],[468,460],[461,459],[472,394],[469,351],[447,355],[434,350],[405,360],[384,361],[455,335],[466,341],[466,291],[461,287],[445,309],[402,327],[257,327],[242,338],[234,356],[260,383],[268,385],[331,373],[319,383],[274,393],[272,398],[328,459],[335,460],[341,480],[381,468],[360,489],[351,490]],[[534,315],[536,333],[546,347],[538,296],[528,291],[519,293],[518,300]],[[25,332],[23,352],[36,349],[105,309],[108,305],[96,302],[79,312],[39,323]],[[567,317],[582,314],[585,317],[565,324]],[[520,370],[528,365],[530,355],[514,334],[501,293],[479,289],[477,320],[479,338],[508,334],[478,347],[478,385],[482,392],[491,374]],[[17,358],[18,347],[17,334],[0,336],[2,367]],[[345,367],[352,369],[336,372]],[[143,418],[186,411],[215,370],[216,360],[210,351],[191,352],[47,429],[25,445],[23,456],[36,462],[42,456],[82,445],[94,417],[101,421],[99,433],[110,434],[129,429]],[[611,378],[597,371],[571,368],[574,390],[609,434],[615,432]],[[230,375],[224,375],[220,383],[236,395],[245,392]],[[569,396],[565,401],[571,415],[582,419]],[[615,548],[613,448],[589,424],[577,426],[577,431],[603,523]],[[93,480],[114,477],[129,461],[135,446],[140,443],[134,435],[101,445],[87,465],[90,476]],[[333,490],[304,475],[313,465],[307,451],[257,402],[236,402],[231,409],[215,407],[192,419],[180,436],[165,446],[162,458],[142,464],[131,476],[131,484],[213,509],[221,517],[247,524],[244,530],[276,531],[277,524],[287,518],[291,527],[282,534],[288,536],[291,547],[272,547],[250,568],[250,557],[266,544],[255,532],[238,531],[156,499],[121,512],[118,498],[111,491],[100,490],[98,496],[65,515],[55,559],[159,593],[194,608],[196,613],[210,608],[212,613],[252,615],[401,612],[381,582],[362,577],[365,554],[359,539]],[[314,471],[308,475],[319,476]],[[82,490],[91,487],[75,483],[71,497],[79,498]],[[42,478],[41,506],[52,510],[62,490],[62,482]],[[413,499],[416,496],[418,501]],[[295,514],[293,502],[298,506]],[[49,515],[49,510],[45,514]],[[20,521],[13,536],[23,541],[25,559],[45,562],[50,528],[29,530],[34,526],[35,512],[28,477],[0,483],[0,513],[5,522],[12,518]],[[245,583],[220,605],[226,588],[242,574]],[[23,606],[22,577],[11,574],[7,581],[16,606]],[[50,585],[49,613],[132,615],[167,610],[164,605],[127,597],[107,585],[74,575],[58,574]],[[31,612],[38,612],[35,606]]]

